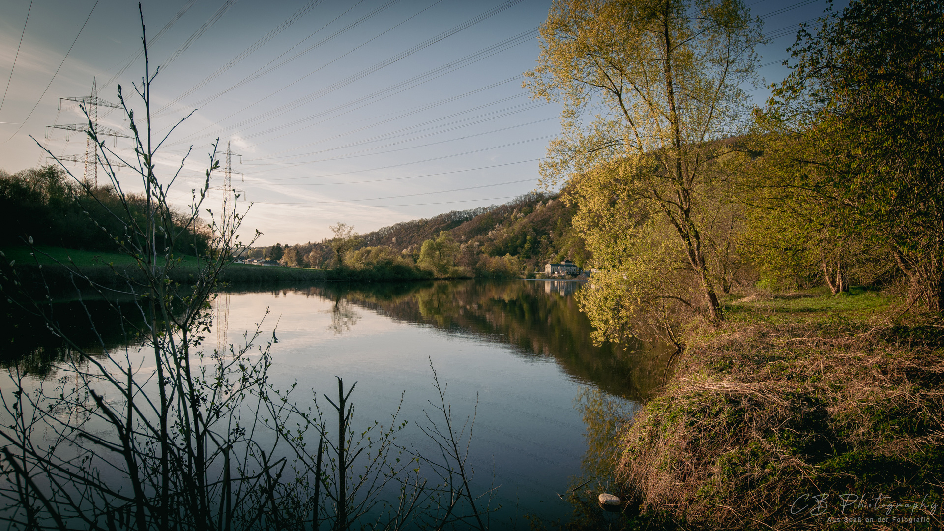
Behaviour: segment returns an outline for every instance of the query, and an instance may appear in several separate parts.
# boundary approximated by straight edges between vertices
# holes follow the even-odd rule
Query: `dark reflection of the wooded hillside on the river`
[[[577,382],[634,402],[661,384],[663,344],[636,341],[596,347],[590,321],[571,295],[572,281],[438,281],[426,283],[321,283],[283,288],[333,303],[329,332],[342,334],[359,320],[352,306],[447,334],[508,343],[518,355],[552,358]]]

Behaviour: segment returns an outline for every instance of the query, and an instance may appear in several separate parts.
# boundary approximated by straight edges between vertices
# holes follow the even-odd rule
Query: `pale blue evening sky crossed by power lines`
[[[746,0],[769,38],[757,50],[766,83],[788,73],[786,47],[827,1]],[[159,176],[169,180],[183,161],[170,198],[185,207],[212,144],[229,146],[233,187],[252,202],[243,233],[261,231],[257,245],[319,241],[338,221],[375,231],[531,192],[561,131],[560,106],[521,86],[549,8],[546,0],[144,0],[152,72],[160,65],[155,137],[170,133]],[[113,103],[121,84],[140,117],[132,84],[141,85],[141,48],[137,2],[0,3],[0,169],[49,163],[43,148],[84,154],[83,133],[67,141],[66,130],[46,126],[83,122],[59,98],[91,94],[93,79]],[[748,89],[762,106],[769,91]],[[127,132],[123,112],[98,114],[100,126]],[[131,154],[126,138],[109,146]],[[81,164],[65,164],[82,177]],[[129,190],[134,177],[118,173]],[[214,174],[211,186],[223,184]],[[224,193],[211,190],[204,207],[219,212]]]

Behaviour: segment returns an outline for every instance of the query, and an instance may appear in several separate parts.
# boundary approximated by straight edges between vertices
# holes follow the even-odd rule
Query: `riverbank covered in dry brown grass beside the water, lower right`
[[[861,290],[757,292],[727,317],[688,331],[665,390],[619,436],[616,472],[643,513],[710,528],[939,528],[939,320],[898,317]]]

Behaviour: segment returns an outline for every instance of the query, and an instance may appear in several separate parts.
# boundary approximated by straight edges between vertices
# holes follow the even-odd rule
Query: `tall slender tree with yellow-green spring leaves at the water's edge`
[[[646,291],[649,302],[670,297],[722,319],[712,255],[730,246],[716,252],[708,239],[730,209],[717,196],[724,172],[712,166],[731,151],[717,141],[743,128],[741,86],[754,75],[759,42],[758,25],[738,0],[557,0],[550,9],[539,64],[526,81],[535,96],[564,104],[564,134],[548,147],[542,183],[578,185],[572,199],[588,249],[609,256],[595,258],[603,290]],[[622,196],[605,196],[614,189]],[[631,228],[650,226],[596,221],[626,213]],[[681,257],[682,268],[669,271],[691,281],[698,300],[652,289],[652,271],[637,266],[638,253],[652,252],[668,253],[663,262]],[[619,314],[635,299],[608,300],[622,307],[599,315]]]

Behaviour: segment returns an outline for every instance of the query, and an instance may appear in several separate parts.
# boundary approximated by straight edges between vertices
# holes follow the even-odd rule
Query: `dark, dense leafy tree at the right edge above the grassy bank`
[[[850,211],[907,276],[912,300],[944,309],[944,7],[852,1],[801,33],[770,114],[819,149],[820,197]]]

